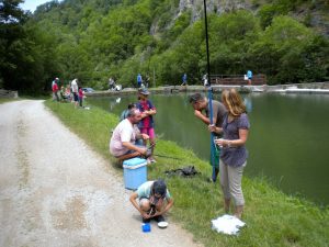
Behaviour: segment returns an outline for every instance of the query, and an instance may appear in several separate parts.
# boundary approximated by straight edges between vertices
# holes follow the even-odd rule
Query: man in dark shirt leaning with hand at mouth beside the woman
[[[213,132],[215,137],[220,137],[222,134],[222,123],[224,120],[224,115],[226,113],[226,109],[223,103],[217,100],[212,100],[213,106],[213,125],[211,125],[209,119],[209,109],[208,109],[208,100],[206,97],[201,93],[194,93],[190,96],[190,103],[194,109],[194,115],[200,119],[203,123],[208,125],[208,131]],[[203,114],[205,112],[205,115]],[[215,144],[212,148],[215,149],[215,178],[211,178],[209,181],[215,182],[219,171],[219,149],[215,147]],[[211,157],[211,160],[213,157]]]

